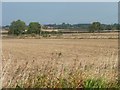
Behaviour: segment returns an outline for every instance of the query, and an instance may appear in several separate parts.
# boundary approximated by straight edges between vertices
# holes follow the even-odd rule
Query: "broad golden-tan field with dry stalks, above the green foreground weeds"
[[[28,87],[29,78],[50,70],[51,78],[79,70],[85,79],[117,79],[117,39],[3,39],[2,51],[3,87]]]

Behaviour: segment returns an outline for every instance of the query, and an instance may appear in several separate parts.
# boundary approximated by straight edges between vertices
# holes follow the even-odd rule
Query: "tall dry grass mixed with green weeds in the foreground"
[[[3,62],[5,60],[4,56]],[[21,64],[12,61],[14,56],[9,54],[7,63],[3,65],[3,87],[21,87],[21,88],[83,88],[96,85],[94,79],[98,80],[96,87],[116,87],[117,85],[117,56],[114,51],[111,57],[104,58],[107,63],[94,66],[94,62],[90,64],[79,61],[78,56],[74,58],[70,66],[62,60],[62,52],[51,53],[49,61],[41,62],[41,65],[34,65],[35,60],[24,61]],[[103,57],[98,58],[103,61]],[[109,62],[111,61],[111,62]],[[15,67],[15,69],[12,69]],[[12,70],[10,73],[9,70]],[[113,74],[113,79],[107,79],[109,70]],[[92,74],[93,72],[94,74]],[[90,76],[89,76],[90,75]],[[98,76],[99,75],[99,76]],[[99,80],[101,78],[101,80]]]

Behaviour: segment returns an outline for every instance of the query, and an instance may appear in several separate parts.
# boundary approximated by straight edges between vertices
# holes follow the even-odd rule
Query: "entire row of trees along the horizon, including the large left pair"
[[[30,22],[29,25],[22,20],[13,21],[9,27],[9,34],[12,35],[21,35],[21,34],[38,34],[41,35],[43,33],[50,33],[50,32],[43,32],[41,29],[69,29],[69,30],[87,30],[88,32],[102,32],[102,30],[120,30],[120,24],[113,24],[113,25],[106,25],[101,24],[100,22],[93,22],[92,24],[48,24],[48,25],[41,25],[39,22]],[[51,32],[56,34],[56,32]]]

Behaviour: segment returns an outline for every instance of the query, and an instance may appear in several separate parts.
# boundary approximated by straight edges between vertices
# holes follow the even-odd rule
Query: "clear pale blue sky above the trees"
[[[118,22],[117,2],[3,2],[2,24],[14,20],[40,24]]]

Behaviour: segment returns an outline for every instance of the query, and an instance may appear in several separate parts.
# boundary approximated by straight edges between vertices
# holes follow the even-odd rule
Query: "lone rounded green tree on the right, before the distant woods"
[[[93,22],[89,27],[89,32],[101,32],[102,25],[100,22]]]

